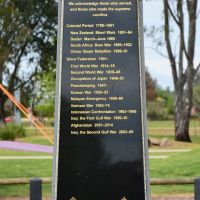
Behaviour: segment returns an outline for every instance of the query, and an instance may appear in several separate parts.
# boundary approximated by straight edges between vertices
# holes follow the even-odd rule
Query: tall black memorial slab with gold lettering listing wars
[[[141,0],[59,5],[53,199],[149,199]]]

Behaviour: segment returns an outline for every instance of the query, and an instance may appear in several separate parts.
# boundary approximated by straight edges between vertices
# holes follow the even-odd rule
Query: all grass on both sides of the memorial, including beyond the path
[[[172,142],[174,136],[163,134],[162,128],[172,128],[172,121],[149,122],[149,127],[157,129],[158,133],[150,133],[150,137],[168,137]],[[32,130],[33,131],[33,130]],[[191,149],[190,152],[183,153],[150,153],[150,155],[167,155],[167,159],[150,159],[151,178],[190,178],[200,176],[200,132],[199,135],[192,135],[193,144],[173,143],[171,146],[163,147],[168,149]],[[28,136],[19,141],[35,144],[51,145],[43,136],[29,132]],[[160,147],[154,147],[159,149]],[[11,150],[0,150],[0,156],[50,156],[47,153],[17,152]],[[31,177],[51,177],[52,160],[0,160],[0,178],[31,178]],[[45,184],[44,195],[51,195],[51,185]],[[151,186],[153,194],[178,194],[193,193],[193,185],[173,185],[173,186]],[[4,196],[28,196],[29,186],[0,186],[0,197]]]

